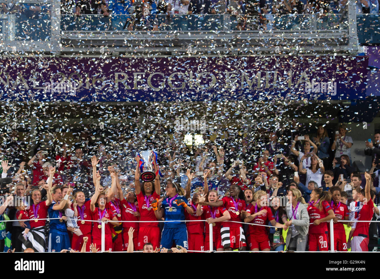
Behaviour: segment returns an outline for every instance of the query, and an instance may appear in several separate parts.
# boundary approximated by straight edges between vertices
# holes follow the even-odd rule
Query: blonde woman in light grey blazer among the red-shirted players
[[[289,228],[286,237],[287,251],[306,251],[310,220],[307,203],[298,189],[290,189],[287,197],[289,202],[286,212],[289,221],[284,227],[285,230]]]

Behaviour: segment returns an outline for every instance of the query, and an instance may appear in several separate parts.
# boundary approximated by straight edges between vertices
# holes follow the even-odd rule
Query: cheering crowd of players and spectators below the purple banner
[[[207,251],[209,224],[218,251],[377,251],[378,223],[354,221],[380,217],[379,132],[366,141],[372,169],[364,174],[352,165],[353,140],[341,124],[333,137],[324,125],[313,137],[292,132],[282,142],[271,132],[254,162],[248,145],[192,153],[173,144],[152,161],[150,182],[140,180],[136,146],[119,142],[111,152],[101,143],[89,157],[82,143],[54,155],[38,150],[28,162],[22,145],[10,140],[2,149],[0,221],[14,221],[0,224],[9,238],[1,249],[97,251],[103,221],[111,251]],[[178,222],[185,220],[192,222]]]

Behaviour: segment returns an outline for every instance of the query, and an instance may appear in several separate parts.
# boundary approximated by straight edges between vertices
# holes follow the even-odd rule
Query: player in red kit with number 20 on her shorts
[[[335,218],[334,211],[330,205],[331,195],[316,188],[310,194],[310,202],[307,207],[309,213],[309,251],[328,251],[328,229],[327,222]]]

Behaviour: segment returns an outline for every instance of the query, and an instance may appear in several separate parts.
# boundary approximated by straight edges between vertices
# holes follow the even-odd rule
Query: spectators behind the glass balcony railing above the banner
[[[3,13],[21,12],[29,20],[47,19],[51,14],[50,5],[2,4]],[[347,0],[68,0],[61,1],[62,15],[76,15],[78,19],[91,22],[99,18],[85,15],[103,15],[101,24],[111,20],[116,30],[198,30],[223,28],[223,14],[230,14],[228,24],[238,30],[263,29],[270,30],[276,22],[274,16],[286,14],[341,14],[341,21],[347,14]],[[357,0],[356,13],[379,13],[379,3],[372,0]],[[188,15],[203,16],[188,16]],[[82,16],[82,17],[81,17]],[[62,18],[63,25],[70,25],[70,17]],[[286,21],[286,20],[285,20]],[[294,21],[294,20],[293,20]],[[302,20],[299,20],[302,21]],[[224,23],[226,25],[226,22]],[[226,26],[227,26],[226,25]],[[287,26],[287,24],[285,24]],[[226,27],[224,26],[224,27]],[[85,28],[83,26],[83,28]],[[28,33],[27,31],[25,31]]]

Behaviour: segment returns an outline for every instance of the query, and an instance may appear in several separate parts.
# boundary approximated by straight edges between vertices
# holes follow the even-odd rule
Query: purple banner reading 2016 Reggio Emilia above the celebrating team
[[[5,58],[0,90],[15,101],[361,99],[365,56]]]

